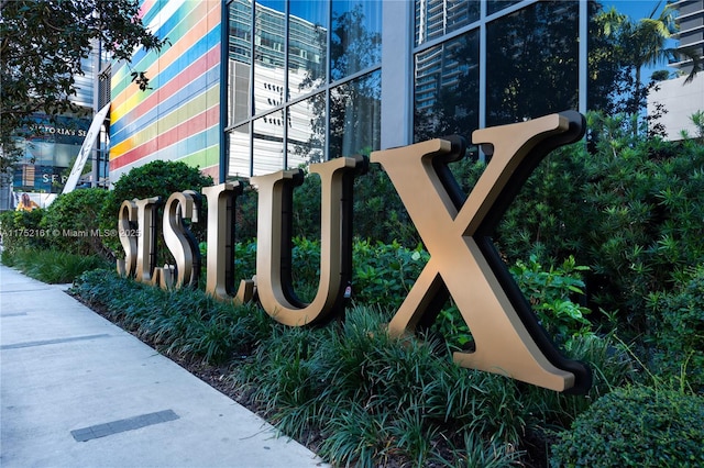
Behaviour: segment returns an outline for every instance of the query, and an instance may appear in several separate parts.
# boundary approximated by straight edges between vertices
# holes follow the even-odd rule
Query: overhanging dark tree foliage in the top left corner
[[[144,25],[138,0],[4,0],[0,5],[0,169],[18,156],[13,136],[37,131],[33,114],[79,112],[72,102],[76,77],[85,74],[84,60],[97,42],[119,60],[129,59],[136,46],[160,49],[166,42]]]

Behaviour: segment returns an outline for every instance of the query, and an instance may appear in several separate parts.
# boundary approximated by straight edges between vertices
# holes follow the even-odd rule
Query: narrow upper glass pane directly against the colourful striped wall
[[[229,15],[228,125],[234,125],[249,119],[251,110],[252,4],[233,0]]]

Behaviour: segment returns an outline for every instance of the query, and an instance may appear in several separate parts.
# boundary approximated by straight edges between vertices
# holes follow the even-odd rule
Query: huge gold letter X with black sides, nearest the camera
[[[438,171],[461,157],[463,144],[457,148],[451,141],[433,140],[372,153],[372,161],[386,169],[430,253],[389,323],[391,333],[413,332],[427,312],[435,312],[436,299],[449,292],[476,346],[474,353],[454,354],[459,365],[557,391],[588,388],[588,369],[559,356],[488,237],[498,222],[495,214],[503,213],[537,161],[582,134],[582,116],[575,112],[474,132],[474,143],[492,144],[494,153],[463,204],[452,197],[449,172]]]

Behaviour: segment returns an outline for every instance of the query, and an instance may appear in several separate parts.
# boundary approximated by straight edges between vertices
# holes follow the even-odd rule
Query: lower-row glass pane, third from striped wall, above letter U
[[[324,160],[326,94],[318,93],[288,108],[287,166]]]

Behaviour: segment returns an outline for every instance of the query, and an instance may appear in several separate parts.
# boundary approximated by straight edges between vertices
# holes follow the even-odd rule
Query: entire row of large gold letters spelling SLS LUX
[[[432,140],[374,152],[372,163],[385,169],[416,225],[430,260],[388,327],[393,335],[413,333],[433,317],[449,296],[475,342],[472,353],[454,353],[462,367],[505,375],[556,391],[585,392],[590,369],[564,358],[537,322],[530,305],[491,242],[491,233],[537,164],[552,149],[579,141],[584,119],[574,111],[473,133],[491,160],[465,199],[448,165],[465,154],[460,137]],[[258,190],[256,276],[233,289],[234,203],[239,183],[202,189],[207,214],[207,292],[245,302],[255,297],[276,321],[304,326],[344,309],[352,279],[352,182],[366,160],[341,157],[310,166],[321,180],[321,244],[318,291],[301,302],[292,286],[292,216],[299,170],[253,177]],[[164,205],[164,241],[175,265],[156,267],[154,252],[158,198],[125,200],[119,213],[124,260],[122,275],[162,287],[198,281],[199,250],[184,220],[200,221],[198,194],[172,194]]]

